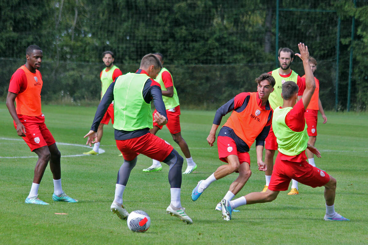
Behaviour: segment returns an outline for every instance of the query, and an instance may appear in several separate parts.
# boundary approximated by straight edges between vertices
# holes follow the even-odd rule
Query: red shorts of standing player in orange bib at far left
[[[45,124],[45,116],[25,116],[18,115],[19,120],[25,127],[25,137],[22,137],[31,151],[43,146],[50,146],[55,143],[55,139],[47,129]],[[15,129],[17,125],[14,123]]]

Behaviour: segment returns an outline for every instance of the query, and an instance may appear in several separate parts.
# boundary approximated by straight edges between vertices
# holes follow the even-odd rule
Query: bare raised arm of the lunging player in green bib
[[[308,46],[304,43],[299,43],[298,48],[300,54],[295,54],[303,61],[303,67],[305,72],[305,90],[302,96],[304,108],[307,109],[309,102],[311,101],[312,95],[316,88],[316,83],[314,81],[313,72],[311,66],[309,65],[309,51]]]

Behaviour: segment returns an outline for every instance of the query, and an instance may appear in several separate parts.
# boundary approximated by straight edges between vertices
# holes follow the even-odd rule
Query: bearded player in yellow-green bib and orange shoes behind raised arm
[[[271,72],[269,72],[273,78],[276,80],[275,84],[275,91],[273,91],[272,94],[270,94],[270,97],[268,98],[270,105],[273,110],[275,108],[282,106],[282,97],[281,97],[281,87],[282,84],[286,81],[293,81],[295,82],[298,87],[302,87],[302,80],[300,76],[293,70],[291,70],[290,65],[291,62],[294,60],[294,52],[290,48],[280,48],[279,49],[279,62],[280,62],[280,68],[277,68]],[[299,92],[298,96],[302,95],[302,91]],[[265,192],[267,190],[268,184],[270,183],[272,169],[273,169],[273,156],[275,155],[275,151],[277,150],[277,142],[275,134],[272,130],[272,125],[270,132],[266,138],[265,141],[265,163],[267,166],[267,170],[265,171],[265,177],[266,177],[266,185],[263,188],[262,192]],[[289,195],[291,194],[298,194],[297,187],[292,187],[291,191],[289,192]]]

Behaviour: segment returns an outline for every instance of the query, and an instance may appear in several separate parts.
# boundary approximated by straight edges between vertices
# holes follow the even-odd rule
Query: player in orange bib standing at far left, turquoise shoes
[[[50,161],[50,170],[54,179],[54,201],[78,202],[68,197],[61,188],[60,151],[54,137],[47,129],[45,115],[41,111],[42,76],[39,72],[43,53],[37,45],[26,49],[27,61],[11,76],[6,106],[14,120],[14,127],[31,151],[38,155],[31,191],[25,203],[48,205],[38,198],[38,188],[43,173]],[[14,101],[17,107],[14,106]]]

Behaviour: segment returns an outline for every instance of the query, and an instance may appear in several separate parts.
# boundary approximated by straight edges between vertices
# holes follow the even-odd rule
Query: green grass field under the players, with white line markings
[[[241,206],[233,219],[223,221],[215,206],[236,179],[231,174],[214,182],[196,202],[190,194],[197,181],[222,164],[217,146],[206,141],[215,111],[182,111],[181,129],[192,157],[195,173],[183,175],[181,203],[193,219],[186,225],[166,214],[170,203],[168,167],[144,173],[151,159],[138,156],[123,200],[128,212],[144,210],[151,217],[146,233],[132,233],[126,221],[110,212],[117,171],[123,162],[111,125],[104,127],[97,156],[73,156],[88,150],[83,136],[89,131],[93,107],[43,106],[46,125],[61,155],[63,190],[78,203],[52,201],[52,174],[47,168],[39,198],[50,205],[30,205],[29,193],[37,158],[17,136],[6,106],[0,109],[0,243],[1,244],[368,244],[368,114],[328,112],[328,123],[318,123],[316,147],[322,158],[316,165],[337,179],[335,210],[347,222],[323,221],[323,187],[299,185],[300,194],[281,192],[271,203]],[[224,120],[223,120],[224,123]],[[180,152],[164,127],[158,136]],[[65,143],[65,144],[61,144]],[[257,170],[255,149],[250,151],[252,176],[236,197],[261,191],[263,172]],[[68,157],[66,157],[68,156]],[[184,160],[183,172],[186,167]],[[66,213],[57,215],[55,213]]]

